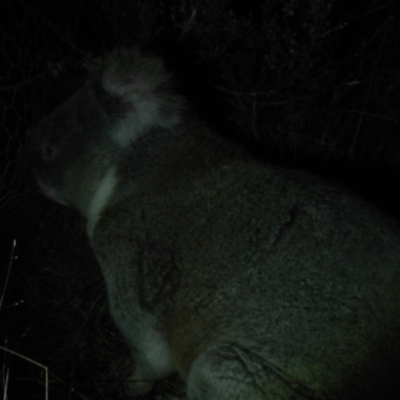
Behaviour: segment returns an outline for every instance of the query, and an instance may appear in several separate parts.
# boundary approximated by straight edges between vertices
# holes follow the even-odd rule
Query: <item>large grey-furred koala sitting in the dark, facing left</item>
[[[160,58],[105,55],[25,154],[86,220],[130,397],[178,373],[188,400],[376,398],[399,367],[397,223],[212,131]]]

